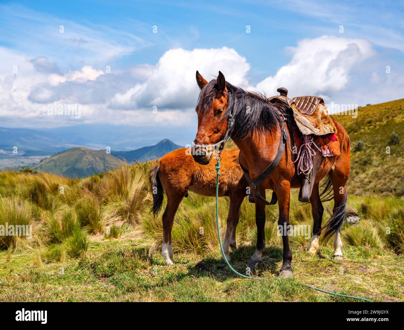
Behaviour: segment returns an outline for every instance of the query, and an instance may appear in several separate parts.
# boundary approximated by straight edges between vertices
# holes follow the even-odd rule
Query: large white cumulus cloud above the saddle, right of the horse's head
[[[349,82],[351,68],[372,56],[372,45],[365,39],[324,35],[303,39],[288,48],[292,60],[274,76],[267,77],[255,89],[275,95],[278,87],[286,87],[290,96],[330,96]]]

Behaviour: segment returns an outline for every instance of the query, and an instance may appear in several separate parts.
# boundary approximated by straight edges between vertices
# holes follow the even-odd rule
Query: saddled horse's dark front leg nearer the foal
[[[261,196],[265,198],[265,189],[259,190]],[[265,204],[255,199],[255,223],[257,224],[257,246],[255,253],[247,263],[250,270],[255,270],[261,266],[262,254],[265,251]]]

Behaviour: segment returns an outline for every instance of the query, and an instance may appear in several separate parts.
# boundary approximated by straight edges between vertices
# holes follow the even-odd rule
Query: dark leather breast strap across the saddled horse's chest
[[[287,122],[287,118],[283,118],[285,122]],[[261,194],[259,193],[259,186],[266,180],[266,178],[275,170],[276,166],[278,166],[280,160],[282,159],[284,150],[285,150],[285,143],[288,143],[288,147],[290,149],[290,143],[289,143],[289,137],[288,137],[288,132],[286,131],[286,128],[282,124],[282,134],[280,138],[280,143],[278,147],[278,153],[275,156],[275,159],[269,164],[265,170],[257,178],[254,180],[251,180],[250,175],[248,174],[247,170],[240,164],[244,176],[247,179],[248,185],[251,187],[252,191],[254,192],[255,198],[261,202],[264,203],[265,205],[274,205],[278,201],[278,197],[276,196],[275,191],[272,192],[272,198],[271,201],[268,202],[266,199],[264,199]],[[292,149],[290,149],[292,151]],[[241,151],[240,151],[241,154]],[[238,162],[240,163],[240,154],[238,154]]]

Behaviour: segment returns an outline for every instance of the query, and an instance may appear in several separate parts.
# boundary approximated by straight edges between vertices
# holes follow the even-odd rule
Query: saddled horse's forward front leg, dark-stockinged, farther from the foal
[[[279,277],[292,278],[292,252],[290,251],[289,237],[287,235],[289,226],[290,182],[284,180],[281,183],[278,183],[275,189],[279,204],[278,228],[282,229],[281,234],[283,243],[283,264],[279,272]]]

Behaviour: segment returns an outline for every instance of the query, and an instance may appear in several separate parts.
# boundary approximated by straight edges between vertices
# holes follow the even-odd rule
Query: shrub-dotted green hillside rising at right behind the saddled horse
[[[333,117],[353,145],[348,193],[404,195],[404,99],[359,108],[358,118]]]

